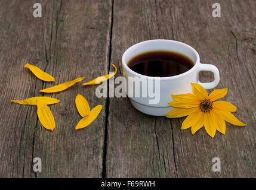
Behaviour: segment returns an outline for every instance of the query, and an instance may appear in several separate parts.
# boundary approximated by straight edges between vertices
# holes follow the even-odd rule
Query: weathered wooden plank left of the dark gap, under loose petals
[[[81,83],[55,94],[42,94],[39,90],[77,77],[90,81],[106,74],[112,4],[110,1],[39,2],[42,18],[33,17],[32,2],[1,2],[0,176],[100,178],[106,99],[95,96],[95,86],[83,87]],[[26,62],[44,69],[56,82],[36,79],[23,69]],[[103,110],[90,126],[75,131],[81,119],[75,107],[78,93],[87,98],[91,108],[101,104]],[[56,122],[54,132],[42,127],[36,107],[10,103],[11,99],[32,96],[61,100],[50,106]],[[42,172],[32,170],[35,157],[42,159]]]

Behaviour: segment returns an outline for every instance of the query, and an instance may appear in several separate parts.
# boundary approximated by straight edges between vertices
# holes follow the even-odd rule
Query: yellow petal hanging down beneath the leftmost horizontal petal
[[[38,119],[44,128],[51,131],[55,128],[53,113],[51,113],[50,108],[40,100],[38,101]]]

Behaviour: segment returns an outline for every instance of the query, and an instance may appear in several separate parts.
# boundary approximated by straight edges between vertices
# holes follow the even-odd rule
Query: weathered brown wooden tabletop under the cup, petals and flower
[[[4,178],[255,178],[256,1],[218,1],[221,17],[212,17],[210,1],[38,1],[42,18],[33,17],[33,1],[0,1],[0,177]],[[30,62],[57,82],[113,71],[135,43],[172,39],[198,50],[202,63],[220,70],[228,87],[223,100],[238,107],[245,127],[226,123],[226,135],[209,137],[205,129],[181,131],[184,118],[144,115],[127,98],[98,98],[96,85],[74,85],[50,94],[56,128],[43,128],[36,106],[10,100],[42,96],[53,83],[38,80],[23,66]],[[211,81],[203,72],[200,80]],[[209,90],[211,92],[211,90]],[[75,131],[81,119],[76,94],[91,107],[103,105],[98,118]],[[47,94],[48,96],[49,94]],[[33,172],[33,159],[42,172]],[[212,171],[219,157],[221,172]]]

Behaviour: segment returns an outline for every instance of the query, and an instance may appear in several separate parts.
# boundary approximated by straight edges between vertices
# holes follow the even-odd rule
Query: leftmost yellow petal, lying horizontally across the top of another
[[[20,105],[36,106],[38,100],[40,100],[45,105],[53,105],[54,103],[60,102],[60,100],[54,99],[53,97],[47,97],[47,96],[30,97],[29,99],[26,99],[26,100],[11,100],[11,102],[18,103]]]

